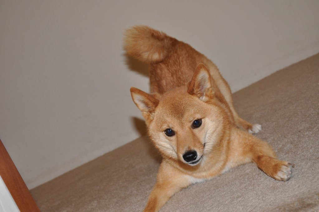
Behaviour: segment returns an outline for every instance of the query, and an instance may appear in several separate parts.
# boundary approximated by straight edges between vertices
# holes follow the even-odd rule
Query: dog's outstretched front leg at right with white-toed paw
[[[287,181],[291,178],[293,163],[278,160],[275,152],[267,142],[239,129],[234,131],[236,133],[233,136],[233,153],[231,152],[230,155],[236,155],[237,164],[241,164],[241,161],[251,160],[263,172],[276,180]]]

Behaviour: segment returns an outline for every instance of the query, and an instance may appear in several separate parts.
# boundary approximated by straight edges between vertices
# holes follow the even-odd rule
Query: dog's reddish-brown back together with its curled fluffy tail
[[[152,92],[163,94],[187,84],[199,63],[205,64],[211,72],[218,72],[210,60],[187,43],[148,26],[126,30],[124,43],[130,56],[150,64]],[[217,74],[217,78],[221,77]]]

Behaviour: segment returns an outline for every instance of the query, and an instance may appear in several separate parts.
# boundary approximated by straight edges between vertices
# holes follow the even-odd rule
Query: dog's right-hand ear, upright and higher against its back
[[[211,74],[204,64],[200,63],[197,65],[193,78],[188,83],[187,92],[190,95],[197,96],[204,102],[213,97],[214,91],[211,85]]]

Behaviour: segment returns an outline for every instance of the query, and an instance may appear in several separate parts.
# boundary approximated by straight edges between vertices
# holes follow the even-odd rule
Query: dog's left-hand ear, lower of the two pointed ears
[[[142,115],[145,118],[145,121],[148,122],[152,118],[152,114],[155,112],[155,108],[159,104],[156,94],[148,94],[140,89],[131,87],[130,89],[133,102],[136,104],[138,109],[142,111]]]

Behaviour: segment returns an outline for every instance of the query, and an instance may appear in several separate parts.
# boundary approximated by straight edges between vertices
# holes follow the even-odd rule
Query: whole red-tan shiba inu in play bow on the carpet
[[[158,211],[180,189],[254,162],[286,181],[293,163],[278,160],[252,133],[261,125],[238,116],[227,82],[203,54],[148,26],[126,30],[127,53],[150,64],[151,94],[130,89],[163,159],[144,211]]]

